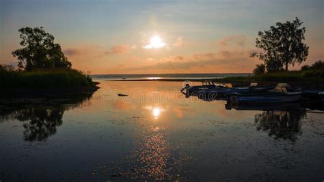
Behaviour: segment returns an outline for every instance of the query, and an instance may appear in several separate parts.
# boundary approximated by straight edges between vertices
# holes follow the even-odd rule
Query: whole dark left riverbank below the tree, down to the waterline
[[[83,94],[98,89],[98,82],[79,70],[0,69],[0,98]]]

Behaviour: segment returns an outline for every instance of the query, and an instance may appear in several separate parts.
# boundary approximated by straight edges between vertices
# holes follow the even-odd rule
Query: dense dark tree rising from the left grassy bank
[[[18,30],[22,39],[21,49],[12,51],[18,57],[18,66],[25,70],[39,68],[70,68],[72,64],[65,57],[59,44],[54,43],[54,36],[44,31],[43,27],[25,27]]]

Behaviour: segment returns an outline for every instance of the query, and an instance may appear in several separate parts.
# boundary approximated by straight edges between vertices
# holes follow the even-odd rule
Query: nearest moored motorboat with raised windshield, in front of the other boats
[[[229,97],[232,103],[245,103],[245,104],[264,104],[264,103],[293,103],[301,101],[302,92],[288,92],[287,86],[283,87],[279,83],[274,90],[260,93],[236,94]]]

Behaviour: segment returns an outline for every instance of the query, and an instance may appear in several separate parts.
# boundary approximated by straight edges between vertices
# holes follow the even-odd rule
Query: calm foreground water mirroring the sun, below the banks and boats
[[[226,109],[226,101],[186,99],[176,81],[99,86],[2,105],[0,180],[324,179],[323,111]]]

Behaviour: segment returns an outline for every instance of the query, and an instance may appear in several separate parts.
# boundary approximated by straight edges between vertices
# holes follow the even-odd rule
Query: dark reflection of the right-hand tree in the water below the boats
[[[306,112],[300,110],[291,111],[265,111],[256,114],[254,121],[257,129],[267,131],[275,139],[288,139],[293,142],[297,140],[297,135],[301,135],[302,118],[306,117]]]

